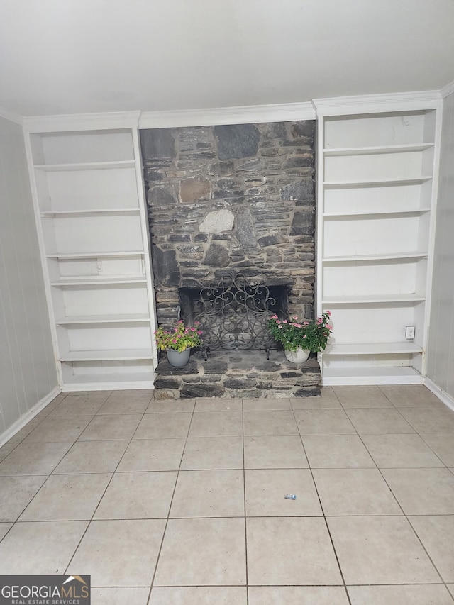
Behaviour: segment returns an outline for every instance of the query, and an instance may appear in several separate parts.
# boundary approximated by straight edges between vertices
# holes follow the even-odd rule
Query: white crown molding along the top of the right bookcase
[[[340,116],[374,111],[414,111],[437,109],[442,96],[438,90],[400,92],[389,94],[365,94],[338,96],[330,99],[314,99],[317,116]]]

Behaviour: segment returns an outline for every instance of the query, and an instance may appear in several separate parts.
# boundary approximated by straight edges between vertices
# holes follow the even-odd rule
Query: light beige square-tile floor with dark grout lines
[[[425,387],[62,394],[0,460],[1,573],[90,574],[93,605],[454,602],[454,412]]]

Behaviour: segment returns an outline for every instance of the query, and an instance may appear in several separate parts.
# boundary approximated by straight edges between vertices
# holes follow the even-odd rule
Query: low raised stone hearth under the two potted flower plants
[[[268,399],[320,394],[320,366],[315,356],[297,365],[275,349],[270,350],[270,360],[258,350],[214,351],[208,361],[201,353],[192,353],[182,368],[172,367],[162,355],[157,374],[155,399]]]

